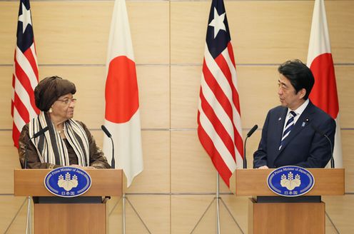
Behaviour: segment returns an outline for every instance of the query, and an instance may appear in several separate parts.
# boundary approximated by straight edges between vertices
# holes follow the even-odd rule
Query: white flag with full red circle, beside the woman
[[[123,169],[129,187],[133,178],[143,171],[143,153],[136,65],[125,0],[114,1],[105,94],[104,125],[116,146],[116,165]],[[107,136],[103,139],[103,152],[110,158],[112,148]]]

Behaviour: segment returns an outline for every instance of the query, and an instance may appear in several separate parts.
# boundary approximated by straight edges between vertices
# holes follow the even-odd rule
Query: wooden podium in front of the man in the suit
[[[312,190],[288,198],[273,193],[267,178],[274,169],[239,169],[230,188],[235,195],[252,196],[248,203],[248,233],[325,233],[325,203],[321,195],[344,195],[343,168],[307,169],[315,178]]]

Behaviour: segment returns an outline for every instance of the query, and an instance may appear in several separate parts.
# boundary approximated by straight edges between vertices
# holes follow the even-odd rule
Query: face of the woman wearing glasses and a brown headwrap
[[[66,121],[69,118],[73,118],[75,102],[76,99],[73,98],[71,93],[60,96],[58,100],[53,103],[53,106],[51,106],[51,116],[60,121]]]

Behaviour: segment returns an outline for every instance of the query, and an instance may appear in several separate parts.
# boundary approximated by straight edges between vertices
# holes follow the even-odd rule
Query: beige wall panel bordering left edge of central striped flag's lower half
[[[229,192],[221,178],[220,188]],[[216,169],[196,131],[171,131],[171,192],[216,192]]]

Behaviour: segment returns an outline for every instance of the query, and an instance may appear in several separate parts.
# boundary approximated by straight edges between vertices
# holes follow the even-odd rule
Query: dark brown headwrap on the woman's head
[[[48,111],[59,97],[68,93],[76,93],[74,83],[59,76],[50,76],[44,78],[34,88],[34,100],[39,110]]]

